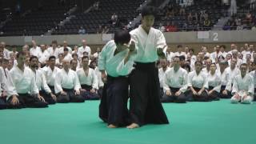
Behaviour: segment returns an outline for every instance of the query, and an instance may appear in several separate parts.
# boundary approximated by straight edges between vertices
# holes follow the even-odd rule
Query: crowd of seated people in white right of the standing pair
[[[206,46],[202,46],[197,56],[188,46],[185,51],[178,46],[175,53],[170,47],[166,48],[166,58],[158,61],[162,102],[208,102],[240,93],[250,95],[249,101],[243,102],[250,103],[256,87],[256,52],[254,45],[245,44],[245,47],[238,52],[237,46],[231,44],[231,50],[226,52],[226,46],[215,46],[214,52],[208,53]],[[244,69],[245,73],[242,73]],[[246,74],[246,77],[242,75],[241,78],[241,74]],[[239,82],[234,85],[234,81]]]

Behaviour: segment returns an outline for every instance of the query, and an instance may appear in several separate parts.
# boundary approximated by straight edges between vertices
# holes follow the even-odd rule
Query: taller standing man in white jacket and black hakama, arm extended
[[[130,31],[138,49],[134,59],[135,69],[130,74],[130,117],[129,129],[148,123],[168,124],[168,118],[160,101],[158,55],[164,55],[166,38],[160,30],[154,29],[156,9],[145,6],[142,9],[142,25]]]

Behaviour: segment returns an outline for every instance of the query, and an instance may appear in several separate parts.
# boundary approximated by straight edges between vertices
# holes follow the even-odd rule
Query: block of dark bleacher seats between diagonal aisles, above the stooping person
[[[75,18],[71,18],[70,22],[53,34],[78,34],[80,26],[85,28],[87,34],[95,34],[99,25],[108,26],[110,33],[113,33],[138,15],[136,10],[143,2],[144,0],[101,0],[99,10],[75,14]],[[114,13],[118,14],[118,24],[112,26],[110,18]]]

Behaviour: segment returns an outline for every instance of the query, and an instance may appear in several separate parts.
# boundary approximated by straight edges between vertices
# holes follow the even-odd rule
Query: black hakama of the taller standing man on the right
[[[130,74],[130,118],[142,126],[147,123],[168,124],[160,102],[160,84],[155,62],[136,62]]]

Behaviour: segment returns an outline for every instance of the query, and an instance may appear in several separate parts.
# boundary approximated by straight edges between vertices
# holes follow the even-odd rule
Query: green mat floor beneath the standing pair
[[[44,109],[0,110],[1,144],[254,144],[256,104],[189,102],[163,104],[170,125],[108,129],[98,101]]]

